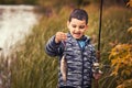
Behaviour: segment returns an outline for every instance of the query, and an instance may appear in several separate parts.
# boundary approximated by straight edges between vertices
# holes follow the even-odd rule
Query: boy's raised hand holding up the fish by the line
[[[65,41],[66,38],[67,38],[67,35],[64,32],[57,32],[55,34],[55,43],[59,43],[61,41]]]

